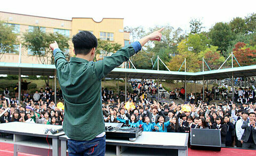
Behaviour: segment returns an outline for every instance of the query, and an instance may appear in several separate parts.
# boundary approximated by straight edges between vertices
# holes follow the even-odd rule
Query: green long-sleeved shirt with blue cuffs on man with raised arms
[[[101,79],[141,49],[138,41],[100,61],[88,61],[54,50],[57,77],[65,100],[63,130],[73,140],[89,141],[105,130]]]

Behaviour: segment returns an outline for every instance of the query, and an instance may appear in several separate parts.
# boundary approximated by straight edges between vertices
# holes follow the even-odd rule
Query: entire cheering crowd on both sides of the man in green
[[[219,129],[222,146],[256,149],[256,97],[252,88],[235,89],[235,103],[224,96],[224,101],[211,104],[208,94],[216,92],[216,95],[221,95],[217,93],[225,91],[218,86],[211,91],[202,89],[206,93],[205,100],[202,100],[201,92],[198,95],[188,94],[188,102],[175,103],[166,102],[164,92],[156,100],[157,83],[154,80],[133,81],[130,84],[132,92],[126,93],[127,103],[124,91],[116,94],[111,88],[102,88],[102,113],[105,122],[124,123],[131,127],[143,127],[144,131],[157,132],[189,133],[192,128]],[[159,90],[163,90],[162,84],[159,84]],[[183,90],[184,88],[176,88],[170,92],[169,98],[184,98]],[[18,105],[17,97],[10,96],[7,91],[8,88],[0,95],[0,113],[8,107],[10,110],[0,118],[1,123],[18,121],[62,124],[64,110],[54,103],[54,91],[48,85],[34,94],[22,92],[21,105]],[[61,99],[61,91],[58,89],[56,97]],[[161,100],[165,102],[160,102]]]

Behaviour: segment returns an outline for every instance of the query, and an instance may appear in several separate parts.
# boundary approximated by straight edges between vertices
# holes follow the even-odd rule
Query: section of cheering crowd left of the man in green
[[[25,86],[22,85],[20,105],[18,105],[18,95],[16,94],[17,86],[14,87],[15,95],[11,96],[8,88],[5,88],[4,94],[0,95],[0,114],[8,107],[10,108],[0,117],[0,122],[18,121],[62,125],[64,112],[54,103],[54,91],[52,88],[46,85],[45,88],[40,88],[40,91],[29,94],[27,90],[30,82],[26,80],[24,82]],[[61,90],[59,91],[58,88],[56,89],[56,98],[58,100],[62,99]]]

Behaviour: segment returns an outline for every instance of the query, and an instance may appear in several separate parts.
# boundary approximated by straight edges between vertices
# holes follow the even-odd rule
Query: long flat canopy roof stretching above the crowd
[[[53,64],[28,64],[28,63],[7,63],[0,62],[0,74],[18,75],[20,69],[22,75],[54,75],[55,65]],[[165,79],[165,80],[202,80],[204,79],[224,79],[234,77],[249,77],[256,75],[256,65],[228,68],[205,72],[174,72],[140,69],[121,69],[115,68],[106,77],[108,78],[127,78],[137,79]]]

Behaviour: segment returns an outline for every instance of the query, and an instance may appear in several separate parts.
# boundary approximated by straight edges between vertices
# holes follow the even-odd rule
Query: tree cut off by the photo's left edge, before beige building
[[[14,49],[13,44],[16,43],[17,34],[13,33],[12,30],[12,27],[0,20],[0,60],[6,52]]]

